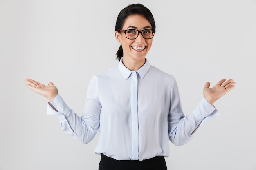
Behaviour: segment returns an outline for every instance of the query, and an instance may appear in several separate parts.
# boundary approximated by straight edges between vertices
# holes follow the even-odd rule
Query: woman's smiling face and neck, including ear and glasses
[[[155,29],[151,28],[150,22],[143,15],[136,14],[128,16],[122,27],[123,30],[115,32],[117,41],[121,43],[123,64],[131,71],[137,71],[145,63],[145,57],[152,46],[154,35],[152,32],[155,32]]]

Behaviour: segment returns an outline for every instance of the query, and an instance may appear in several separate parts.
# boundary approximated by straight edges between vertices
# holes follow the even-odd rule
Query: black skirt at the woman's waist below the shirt
[[[167,170],[163,156],[157,156],[143,161],[118,161],[101,154],[99,170]]]

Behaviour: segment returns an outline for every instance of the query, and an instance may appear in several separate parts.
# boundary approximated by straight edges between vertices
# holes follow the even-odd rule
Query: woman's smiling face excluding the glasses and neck
[[[146,18],[142,15],[131,15],[126,18],[122,30],[126,29],[151,29],[151,24]],[[120,33],[115,31],[115,37],[118,42],[122,44],[124,58],[123,60],[145,60],[145,57],[152,46],[153,39],[144,39],[141,35],[134,39],[130,40],[126,38],[125,33]]]

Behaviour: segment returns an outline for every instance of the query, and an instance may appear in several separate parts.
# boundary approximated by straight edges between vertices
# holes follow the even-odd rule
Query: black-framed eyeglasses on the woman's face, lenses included
[[[137,30],[137,29],[126,29],[126,30],[116,30],[121,33],[125,33],[126,38],[133,40],[139,36],[141,33],[144,39],[151,39],[154,37],[155,30],[154,29],[144,29],[144,30]]]

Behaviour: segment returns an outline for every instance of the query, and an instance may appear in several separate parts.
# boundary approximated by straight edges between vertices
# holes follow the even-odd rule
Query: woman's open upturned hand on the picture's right
[[[236,82],[233,79],[226,79],[220,80],[215,86],[210,88],[210,82],[206,82],[203,89],[204,98],[213,105],[220,97],[231,91],[235,88]]]

